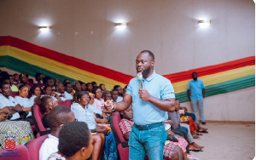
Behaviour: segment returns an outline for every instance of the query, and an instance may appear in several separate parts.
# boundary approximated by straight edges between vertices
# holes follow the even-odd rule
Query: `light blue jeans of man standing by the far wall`
[[[206,122],[206,117],[205,117],[205,113],[204,113],[204,99],[201,99],[201,100],[191,99],[191,104],[192,104],[192,109],[193,109],[196,119],[199,119],[197,117],[197,104],[198,104],[201,122]]]

